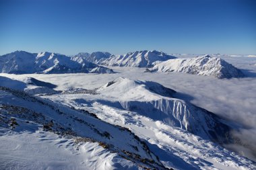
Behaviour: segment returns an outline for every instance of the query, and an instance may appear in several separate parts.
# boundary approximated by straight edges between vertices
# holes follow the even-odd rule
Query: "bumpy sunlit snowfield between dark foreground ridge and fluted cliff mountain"
[[[162,121],[101,103],[94,103],[90,108],[102,120],[127,127],[147,140],[150,149],[166,167],[184,170],[256,168],[254,162]]]

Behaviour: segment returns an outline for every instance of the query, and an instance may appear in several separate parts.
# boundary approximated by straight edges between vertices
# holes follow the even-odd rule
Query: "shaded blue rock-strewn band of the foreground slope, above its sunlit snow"
[[[0,100],[1,128],[24,131],[27,124],[38,124],[38,128],[69,136],[77,143],[98,142],[103,148],[119,155],[120,159],[127,159],[133,168],[166,169],[147,144],[127,128],[98,120],[86,110],[67,108],[22,91],[0,87],[0,93],[1,97],[5,97],[5,100]]]

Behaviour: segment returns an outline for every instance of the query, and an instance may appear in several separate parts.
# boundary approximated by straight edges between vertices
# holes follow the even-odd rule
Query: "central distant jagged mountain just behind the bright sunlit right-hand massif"
[[[176,57],[170,56],[164,52],[143,50],[129,52],[125,55],[111,56],[110,58],[106,58],[106,60],[102,60],[99,64],[121,67],[152,67],[154,62],[165,61],[173,58]]]

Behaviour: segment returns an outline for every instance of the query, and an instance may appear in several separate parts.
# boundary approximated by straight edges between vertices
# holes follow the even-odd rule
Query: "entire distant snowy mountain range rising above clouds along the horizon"
[[[177,58],[156,50],[128,52],[113,55],[109,52],[80,52],[75,56],[40,52],[15,51],[0,56],[1,73],[114,73],[106,66],[146,67],[147,72],[183,72],[193,75],[214,76],[219,79],[243,77],[243,73],[216,56]]]

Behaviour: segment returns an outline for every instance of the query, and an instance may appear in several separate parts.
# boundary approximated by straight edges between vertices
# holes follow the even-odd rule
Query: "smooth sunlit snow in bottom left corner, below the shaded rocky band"
[[[1,169],[137,169],[97,142],[76,144],[72,138],[30,124],[25,132],[0,128]]]

